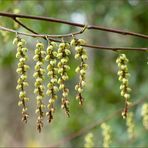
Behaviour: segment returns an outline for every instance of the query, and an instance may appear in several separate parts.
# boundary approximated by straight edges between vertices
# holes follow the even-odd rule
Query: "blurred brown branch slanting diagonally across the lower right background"
[[[143,103],[145,100],[146,100],[146,98],[138,100],[135,103],[133,103],[129,108],[133,108],[136,105]],[[123,109],[119,109],[119,110],[113,112],[112,114],[110,114],[109,116],[105,117],[104,119],[98,120],[95,123],[93,122],[93,124],[90,124],[90,126],[82,128],[79,131],[77,131],[77,132],[75,132],[75,133],[65,137],[64,139],[62,139],[61,141],[59,141],[57,144],[53,145],[52,147],[58,147],[59,145],[61,146],[61,144],[67,143],[67,142],[69,142],[69,141],[71,141],[71,140],[73,140],[73,139],[75,139],[77,137],[80,137],[80,136],[86,134],[88,131],[90,131],[90,130],[96,128],[96,127],[99,127],[102,123],[104,123],[104,122],[106,122],[108,120],[111,120],[115,116],[120,115],[122,110]]]

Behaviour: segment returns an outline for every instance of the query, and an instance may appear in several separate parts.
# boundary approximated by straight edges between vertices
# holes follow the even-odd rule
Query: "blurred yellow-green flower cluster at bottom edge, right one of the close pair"
[[[103,147],[108,148],[111,143],[111,128],[106,123],[102,123],[101,128],[103,136]]]

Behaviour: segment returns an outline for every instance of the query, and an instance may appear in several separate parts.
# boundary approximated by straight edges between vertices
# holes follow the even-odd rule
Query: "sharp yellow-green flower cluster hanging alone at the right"
[[[119,81],[121,82],[120,85],[120,92],[121,96],[125,98],[125,108],[122,112],[123,118],[126,118],[127,112],[128,112],[128,100],[130,99],[130,92],[131,88],[129,87],[128,77],[130,76],[128,72],[128,59],[125,54],[120,54],[119,57],[116,60],[116,63],[118,64],[119,70],[118,70],[118,76]]]

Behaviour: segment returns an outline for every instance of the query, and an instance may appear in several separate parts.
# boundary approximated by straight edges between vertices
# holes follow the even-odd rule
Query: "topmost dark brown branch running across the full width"
[[[44,21],[48,21],[48,22],[62,23],[62,24],[77,26],[77,27],[81,27],[81,28],[85,27],[85,24],[74,23],[74,22],[70,22],[70,21],[64,21],[61,19],[55,19],[55,18],[44,17],[44,16],[22,15],[22,14],[13,14],[13,13],[6,13],[6,12],[0,12],[0,16],[10,17],[13,19],[14,18],[26,18],[26,19],[34,19],[34,20],[44,20]],[[96,25],[87,25],[87,29],[101,30],[101,31],[106,31],[106,32],[118,33],[121,35],[130,35],[130,36],[136,36],[136,37],[148,39],[148,35],[130,32],[130,31],[122,31],[119,29],[112,29],[112,28],[96,26]]]

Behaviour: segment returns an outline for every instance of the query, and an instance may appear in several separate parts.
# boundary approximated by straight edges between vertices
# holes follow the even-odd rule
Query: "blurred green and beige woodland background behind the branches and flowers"
[[[0,0],[0,11],[14,12],[29,15],[41,15],[60,18],[78,23],[96,24],[110,28],[131,30],[148,34],[148,0]],[[24,24],[39,33],[65,34],[77,31],[79,28],[64,24],[44,21],[20,19]],[[0,25],[19,31],[26,31],[16,25],[12,19],[0,17]],[[29,48],[29,71],[30,86],[28,94],[29,122],[23,125],[21,122],[20,108],[17,106],[18,92],[15,90],[17,74],[17,60],[15,58],[16,48],[12,45],[15,37],[13,33],[0,32],[0,146],[60,146],[60,147],[82,147],[84,137],[81,134],[64,143],[59,143],[64,137],[71,137],[84,127],[89,127],[96,121],[101,121],[124,106],[124,99],[120,97],[117,77],[117,65],[115,60],[117,53],[113,51],[97,50],[88,48],[89,69],[87,73],[87,86],[85,88],[85,103],[83,107],[75,100],[74,85],[77,76],[74,69],[77,62],[71,58],[69,71],[70,80],[67,86],[70,88],[70,112],[67,118],[60,109],[60,101],[57,102],[54,120],[45,124],[39,134],[36,130],[36,114],[34,113],[36,103],[33,94],[33,67],[32,60],[37,39],[25,37]],[[90,44],[112,46],[112,47],[147,47],[146,39],[132,36],[123,36],[114,33],[88,30],[78,37],[84,38]],[[38,39],[41,40],[42,39]],[[43,41],[46,45],[47,43]],[[132,88],[131,101],[135,102],[145,98],[148,101],[148,65],[146,52],[126,51],[129,58],[130,86]],[[48,80],[47,80],[48,81]],[[60,98],[59,98],[60,100]],[[47,102],[47,98],[45,98]],[[135,137],[128,138],[125,120],[120,114],[114,115],[107,124],[112,129],[111,146],[148,146],[148,132],[142,125],[141,106],[132,108],[134,112]],[[95,146],[102,146],[100,126],[89,130],[94,134]]]

